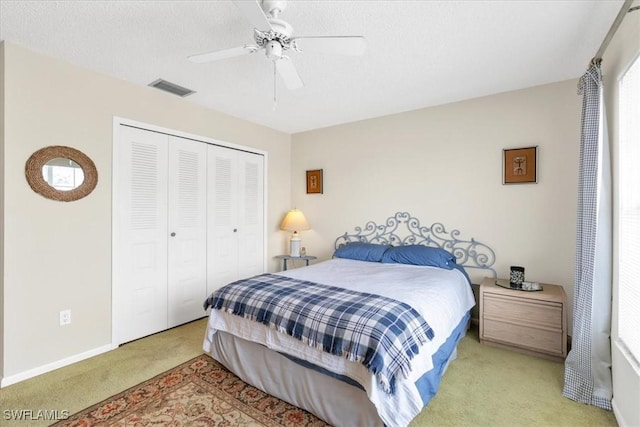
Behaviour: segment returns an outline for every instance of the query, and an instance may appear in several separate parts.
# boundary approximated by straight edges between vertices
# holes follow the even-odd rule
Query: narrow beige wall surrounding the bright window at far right
[[[634,2],[632,6],[640,6],[640,2]],[[624,350],[621,350],[618,342],[618,81],[638,55],[640,55],[640,11],[635,11],[625,16],[602,58],[602,78],[604,82],[605,106],[607,109],[607,125],[613,154],[614,188],[613,330],[611,334],[613,374],[612,405],[618,423],[628,426],[640,425],[640,407],[638,407],[638,402],[640,402],[640,367],[638,366],[638,361],[633,361],[629,355],[625,354]]]

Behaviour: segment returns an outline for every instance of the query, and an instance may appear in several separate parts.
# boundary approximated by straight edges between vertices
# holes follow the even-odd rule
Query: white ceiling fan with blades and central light
[[[304,86],[293,62],[284,53],[295,52],[336,53],[342,55],[362,55],[366,41],[362,36],[316,36],[292,37],[293,28],[279,18],[285,9],[285,0],[233,0],[254,27],[256,44],[223,49],[189,56],[195,63],[206,63],[220,59],[255,53],[264,49],[267,58],[273,61],[275,70],[282,77],[288,89]]]

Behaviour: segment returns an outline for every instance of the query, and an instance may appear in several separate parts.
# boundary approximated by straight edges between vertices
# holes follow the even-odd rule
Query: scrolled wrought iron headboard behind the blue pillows
[[[459,235],[459,230],[447,232],[439,222],[426,227],[420,225],[420,220],[408,212],[398,212],[387,218],[384,224],[369,221],[364,228],[356,227],[353,234],[344,233],[336,239],[335,248],[338,249],[350,242],[438,247],[455,255],[456,262],[464,268],[487,270],[496,277],[496,271],[493,269],[496,254],[493,249],[473,238],[459,239]]]

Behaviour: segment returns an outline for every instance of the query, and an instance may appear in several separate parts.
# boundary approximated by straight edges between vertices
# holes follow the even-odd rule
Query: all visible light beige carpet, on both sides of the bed
[[[202,354],[206,321],[156,334],[100,356],[0,389],[0,425],[7,410],[79,412]],[[481,345],[477,328],[463,338],[458,359],[438,394],[411,427],[616,426],[613,413],[562,396],[564,365]],[[348,426],[348,422],[345,423]]]

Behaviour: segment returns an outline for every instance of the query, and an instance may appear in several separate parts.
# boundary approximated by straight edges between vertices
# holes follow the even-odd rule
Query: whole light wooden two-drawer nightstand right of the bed
[[[562,286],[541,283],[525,292],[480,284],[480,342],[547,359],[567,356],[567,296]]]

